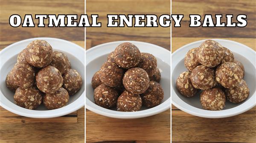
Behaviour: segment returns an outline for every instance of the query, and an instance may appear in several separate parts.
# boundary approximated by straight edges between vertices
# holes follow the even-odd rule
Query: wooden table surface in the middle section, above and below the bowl
[[[170,14],[169,0],[86,1],[87,14],[99,14],[102,28],[86,28],[86,48],[112,41],[135,40],[170,50],[169,28],[107,28],[107,14]],[[90,77],[91,78],[91,77]],[[86,143],[169,143],[170,109],[140,119],[115,119],[86,110]]]

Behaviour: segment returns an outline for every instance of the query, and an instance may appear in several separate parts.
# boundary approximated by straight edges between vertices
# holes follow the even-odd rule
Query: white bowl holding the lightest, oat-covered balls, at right
[[[226,101],[226,107],[223,110],[209,111],[202,108],[199,101],[200,93],[192,98],[186,98],[177,91],[177,77],[181,72],[188,71],[184,66],[184,57],[189,49],[198,47],[205,41],[201,40],[185,45],[172,53],[172,104],[184,112],[205,118],[225,118],[241,114],[256,105],[256,53],[251,48],[238,42],[224,39],[213,40],[230,49],[235,59],[244,65],[245,75],[243,79],[250,89],[249,97],[240,104],[233,104]]]

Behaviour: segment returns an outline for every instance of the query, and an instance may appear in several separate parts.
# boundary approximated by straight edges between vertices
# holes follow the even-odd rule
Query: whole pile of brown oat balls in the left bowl
[[[80,74],[70,68],[64,53],[35,40],[19,53],[6,85],[15,92],[14,101],[20,107],[36,109],[43,102],[47,109],[61,108],[82,85]]]

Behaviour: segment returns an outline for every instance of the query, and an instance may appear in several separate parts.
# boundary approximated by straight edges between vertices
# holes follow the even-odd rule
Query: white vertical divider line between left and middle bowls
[[[84,0],[84,14],[86,14],[86,0]],[[86,143],[86,27],[84,27],[84,143]]]

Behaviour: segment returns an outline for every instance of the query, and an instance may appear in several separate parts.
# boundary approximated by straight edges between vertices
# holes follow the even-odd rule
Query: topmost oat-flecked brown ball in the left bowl
[[[44,40],[32,41],[26,47],[26,61],[34,67],[46,67],[52,62],[52,46]]]

